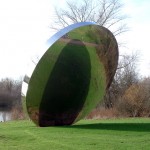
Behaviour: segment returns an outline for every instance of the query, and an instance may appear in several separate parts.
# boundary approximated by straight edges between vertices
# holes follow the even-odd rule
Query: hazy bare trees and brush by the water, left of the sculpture
[[[6,120],[6,113],[11,112],[11,117],[17,119],[22,114],[21,103],[21,80],[9,78],[0,81],[0,112],[3,113],[3,120]]]

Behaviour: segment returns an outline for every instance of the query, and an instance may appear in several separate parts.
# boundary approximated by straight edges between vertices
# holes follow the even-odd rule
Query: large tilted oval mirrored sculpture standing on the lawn
[[[113,34],[93,23],[56,33],[29,81],[27,112],[38,126],[71,125],[103,99],[118,63]]]

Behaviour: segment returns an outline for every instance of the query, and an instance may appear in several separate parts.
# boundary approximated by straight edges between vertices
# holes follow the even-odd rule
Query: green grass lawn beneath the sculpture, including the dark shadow
[[[150,119],[82,120],[73,126],[0,123],[0,150],[149,150]]]

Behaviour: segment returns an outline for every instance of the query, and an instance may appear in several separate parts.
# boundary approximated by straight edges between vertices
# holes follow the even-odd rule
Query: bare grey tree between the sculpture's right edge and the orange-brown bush
[[[120,59],[114,80],[104,98],[105,108],[112,108],[132,84],[139,82],[138,59],[137,53],[123,55]]]

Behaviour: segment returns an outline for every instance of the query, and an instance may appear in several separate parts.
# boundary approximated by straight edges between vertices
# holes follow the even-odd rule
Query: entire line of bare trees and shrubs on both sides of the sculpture
[[[110,88],[103,101],[89,114],[90,118],[104,115],[150,117],[150,77],[140,78],[138,61],[137,53],[122,56]],[[21,86],[21,80],[6,78],[0,81],[0,111],[11,112],[12,119],[23,119],[25,116]]]

